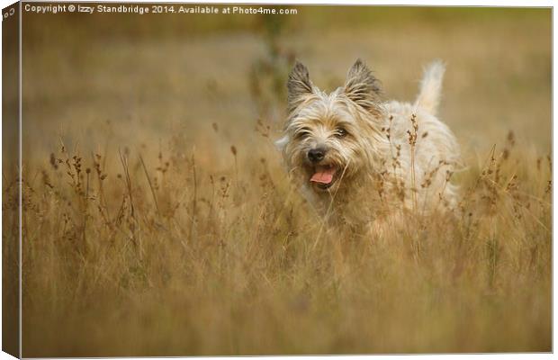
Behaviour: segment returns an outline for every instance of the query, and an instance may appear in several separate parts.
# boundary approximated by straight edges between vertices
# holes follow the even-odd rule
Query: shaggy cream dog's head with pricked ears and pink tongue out
[[[297,181],[317,193],[337,192],[370,164],[382,114],[379,82],[358,59],[345,85],[325,94],[297,62],[287,87],[289,115],[277,145]]]

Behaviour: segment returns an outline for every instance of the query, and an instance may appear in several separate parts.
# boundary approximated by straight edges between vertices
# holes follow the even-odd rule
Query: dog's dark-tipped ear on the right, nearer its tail
[[[349,69],[344,90],[349,99],[366,110],[377,110],[381,95],[380,81],[372,75],[372,71],[360,58],[356,59],[355,65]]]

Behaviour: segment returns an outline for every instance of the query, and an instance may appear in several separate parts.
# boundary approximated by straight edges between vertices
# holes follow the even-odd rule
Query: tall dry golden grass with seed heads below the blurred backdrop
[[[24,176],[24,355],[550,351],[551,164],[513,142],[454,213],[365,238],[237,148],[213,174],[179,137],[60,144]]]

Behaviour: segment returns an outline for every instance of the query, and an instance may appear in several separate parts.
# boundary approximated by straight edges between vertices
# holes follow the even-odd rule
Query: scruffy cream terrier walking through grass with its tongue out
[[[412,211],[455,207],[450,183],[461,163],[455,135],[437,119],[445,66],[425,68],[414,103],[387,101],[357,59],[330,94],[296,61],[287,81],[287,118],[276,141],[288,173],[330,224],[370,226]],[[402,216],[402,217],[401,217]]]

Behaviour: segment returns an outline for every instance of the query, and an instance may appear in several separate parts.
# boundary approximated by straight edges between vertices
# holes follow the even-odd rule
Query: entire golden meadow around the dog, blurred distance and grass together
[[[551,11],[296,8],[24,15],[23,356],[552,350]],[[408,101],[446,61],[454,213],[339,238],[290,184],[293,59],[357,57]]]

